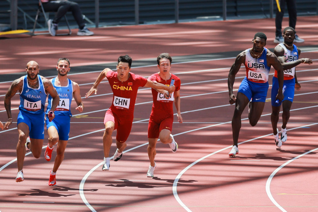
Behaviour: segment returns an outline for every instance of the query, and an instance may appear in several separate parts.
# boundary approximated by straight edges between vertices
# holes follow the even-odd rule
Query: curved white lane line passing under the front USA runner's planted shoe
[[[270,115],[270,114],[267,114],[267,115]],[[298,128],[302,128],[302,127],[309,127],[309,126],[312,126],[312,125],[316,125],[318,123],[314,123],[314,124],[309,124],[309,125],[304,125],[304,126],[300,126],[300,127],[294,127],[294,128],[291,128],[291,129],[288,129],[287,131],[290,131],[290,130],[294,130],[294,129],[298,129]],[[260,138],[264,138],[266,136],[269,136],[269,135],[272,135],[273,133],[269,133],[269,134],[266,134],[266,135],[262,135],[262,136],[259,136],[257,138],[253,138],[253,139],[250,139],[250,140],[245,140],[243,142],[240,142],[238,143],[238,145],[240,144],[243,144],[243,143],[246,143],[246,142],[249,142],[249,141],[252,141],[252,140],[257,140],[257,139],[260,139]],[[219,152],[222,152],[223,150],[226,150],[226,149],[230,149],[232,148],[232,145],[231,146],[228,146],[228,147],[225,147],[223,149],[219,149],[218,151],[215,151],[211,154],[208,154],[200,159],[198,159],[197,161],[194,161],[193,163],[191,163],[189,166],[187,166],[186,168],[184,168],[175,178],[174,182],[173,182],[173,185],[172,185],[172,193],[173,195],[175,196],[175,199],[176,201],[183,207],[183,209],[185,209],[186,211],[191,211],[182,201],[181,199],[179,198],[179,195],[177,193],[177,184],[178,184],[178,181],[179,179],[181,178],[181,176],[189,169],[191,168],[192,166],[194,166],[195,164],[197,164],[198,162],[210,157],[211,155],[214,155],[214,154],[217,154]]]

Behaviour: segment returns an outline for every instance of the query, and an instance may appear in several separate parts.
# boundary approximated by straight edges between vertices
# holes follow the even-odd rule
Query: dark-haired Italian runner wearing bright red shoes
[[[53,146],[56,143],[58,144],[54,166],[50,172],[49,186],[56,185],[56,172],[64,159],[64,152],[70,134],[72,98],[74,97],[77,104],[75,110],[82,112],[84,109],[79,93],[79,85],[67,78],[67,73],[70,71],[70,61],[67,58],[59,58],[56,70],[58,71],[58,76],[51,79],[51,82],[58,92],[60,99],[59,105],[55,109],[55,118],[51,122],[48,120],[48,114],[52,110],[52,97],[50,95],[46,110],[46,129],[49,134],[49,143],[45,149],[45,160],[51,160]]]

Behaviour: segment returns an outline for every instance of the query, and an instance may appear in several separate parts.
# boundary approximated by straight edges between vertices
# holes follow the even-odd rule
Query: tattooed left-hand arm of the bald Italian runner
[[[9,129],[10,124],[12,123],[12,115],[11,115],[11,98],[16,94],[17,91],[22,91],[23,86],[23,77],[16,79],[12,82],[10,88],[8,89],[7,93],[4,97],[4,107],[7,111],[8,120],[4,124],[4,129]]]

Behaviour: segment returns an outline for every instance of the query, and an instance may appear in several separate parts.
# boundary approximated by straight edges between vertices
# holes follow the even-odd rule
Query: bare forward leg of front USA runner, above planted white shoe
[[[233,146],[238,146],[239,131],[241,129],[241,115],[250,100],[243,93],[238,93],[232,118]]]

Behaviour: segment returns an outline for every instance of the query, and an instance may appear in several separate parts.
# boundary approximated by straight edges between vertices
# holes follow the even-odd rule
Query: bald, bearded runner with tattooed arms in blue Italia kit
[[[16,182],[24,180],[22,169],[25,151],[31,149],[35,158],[39,158],[41,155],[44,139],[44,105],[46,94],[49,93],[52,96],[52,111],[55,110],[59,103],[59,95],[52,86],[52,83],[48,79],[38,75],[39,70],[37,62],[28,62],[26,65],[27,75],[14,80],[4,98],[4,106],[8,114],[8,121],[5,123],[4,129],[9,129],[12,123],[11,98],[17,91],[20,92],[20,112],[17,117],[19,140],[17,143],[18,173]],[[54,119],[54,113],[50,120],[52,119]],[[27,142],[27,139],[30,142]]]

